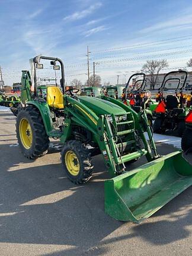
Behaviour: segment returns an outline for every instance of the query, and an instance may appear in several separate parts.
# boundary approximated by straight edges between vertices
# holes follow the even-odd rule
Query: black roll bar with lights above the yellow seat
[[[57,57],[46,57],[46,56],[36,56],[33,58],[33,63],[34,63],[34,96],[37,96],[37,76],[36,76],[36,63],[40,62],[40,59],[46,59],[46,60],[55,60],[60,63],[61,67],[61,76],[62,78],[60,79],[60,86],[62,88],[63,94],[65,93],[65,71],[64,71],[64,64],[61,59]]]

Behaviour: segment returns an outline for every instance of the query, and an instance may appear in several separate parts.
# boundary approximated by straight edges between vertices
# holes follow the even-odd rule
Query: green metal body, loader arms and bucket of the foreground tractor
[[[64,92],[64,108],[53,109],[47,104],[46,94],[41,93],[46,87],[39,92],[37,88],[36,94],[31,92],[28,71],[23,71],[21,82],[21,101],[38,108],[48,136],[59,137],[64,144],[74,139],[73,132],[78,128],[88,132],[90,145],[100,149],[112,178],[105,181],[105,212],[110,216],[138,223],[191,185],[191,167],[180,152],[158,158],[145,110],[136,113],[130,105],[104,95],[77,98]],[[54,129],[56,113],[63,123]],[[144,155],[148,164],[125,172],[126,162]]]

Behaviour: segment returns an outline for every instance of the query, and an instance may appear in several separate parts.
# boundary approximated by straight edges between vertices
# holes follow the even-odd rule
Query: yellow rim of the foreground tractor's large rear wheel
[[[21,143],[25,149],[30,149],[33,141],[33,133],[27,119],[21,119],[19,130]]]

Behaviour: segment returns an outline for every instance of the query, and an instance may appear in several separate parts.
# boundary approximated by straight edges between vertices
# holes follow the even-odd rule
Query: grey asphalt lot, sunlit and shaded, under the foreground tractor
[[[65,177],[53,145],[35,161],[24,158],[15,117],[0,111],[1,256],[192,255],[192,187],[140,225],[119,222],[104,212],[108,174],[101,156],[94,158],[92,180],[76,186]],[[157,146],[163,155],[177,150]]]

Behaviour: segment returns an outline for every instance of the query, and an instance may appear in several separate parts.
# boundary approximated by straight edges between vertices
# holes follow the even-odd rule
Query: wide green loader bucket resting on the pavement
[[[192,184],[192,167],[181,152],[105,181],[105,212],[136,223],[153,215]]]

